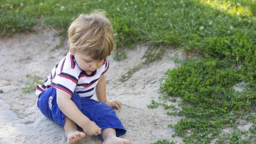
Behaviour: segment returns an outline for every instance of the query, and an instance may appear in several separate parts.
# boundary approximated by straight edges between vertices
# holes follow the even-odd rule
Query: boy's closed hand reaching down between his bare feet
[[[82,127],[84,133],[89,136],[97,136],[101,134],[101,128],[93,121],[89,121],[84,127]]]

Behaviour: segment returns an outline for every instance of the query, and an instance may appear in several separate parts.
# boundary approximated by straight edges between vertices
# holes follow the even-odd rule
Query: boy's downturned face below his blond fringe
[[[96,69],[100,68],[104,62],[102,60],[94,60],[91,56],[88,56],[86,53],[77,52],[74,54],[76,63],[81,68],[81,70],[85,71],[87,74],[91,74]]]

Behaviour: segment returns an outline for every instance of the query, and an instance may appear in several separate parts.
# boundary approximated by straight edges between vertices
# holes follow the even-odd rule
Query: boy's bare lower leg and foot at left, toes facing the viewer
[[[70,144],[76,144],[80,139],[85,137],[85,133],[79,132],[77,130],[76,123],[74,121],[72,121],[68,117],[65,117],[64,120],[64,129],[67,136],[67,141]]]

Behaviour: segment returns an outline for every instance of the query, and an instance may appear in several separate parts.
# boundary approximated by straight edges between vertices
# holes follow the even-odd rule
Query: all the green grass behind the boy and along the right
[[[182,110],[170,113],[185,116],[170,124],[175,136],[185,143],[255,143],[256,0],[2,0],[0,6],[3,37],[41,27],[66,31],[80,13],[101,8],[121,50],[154,45],[148,61],[161,58],[160,48],[169,46],[196,55],[168,70],[161,83],[163,95],[181,97]],[[233,90],[239,82],[248,88]],[[241,120],[254,125],[239,130]],[[233,132],[221,137],[227,127]]]

